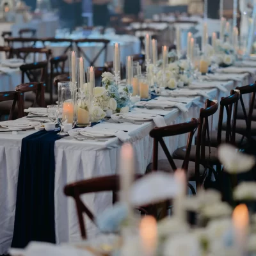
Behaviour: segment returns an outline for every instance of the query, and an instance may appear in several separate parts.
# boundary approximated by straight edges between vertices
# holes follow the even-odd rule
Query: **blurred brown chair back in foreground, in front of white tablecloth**
[[[136,179],[140,179],[141,175],[137,175]],[[116,202],[116,192],[119,190],[120,180],[118,175],[111,175],[105,177],[98,177],[88,180],[82,180],[68,184],[64,188],[66,196],[72,196],[76,201],[77,216],[79,220],[81,236],[86,239],[86,228],[84,225],[83,212],[95,223],[95,216],[82,202],[80,196],[86,193],[99,193],[103,191],[113,192],[113,203]],[[95,223],[96,225],[96,223]]]

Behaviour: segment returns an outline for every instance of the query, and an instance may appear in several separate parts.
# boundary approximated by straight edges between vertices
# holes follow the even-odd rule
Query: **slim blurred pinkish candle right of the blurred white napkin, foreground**
[[[174,172],[174,177],[180,185],[180,193],[173,200],[173,214],[180,221],[186,221],[186,212],[184,211],[183,202],[186,198],[187,179],[186,173],[182,169],[177,169]]]

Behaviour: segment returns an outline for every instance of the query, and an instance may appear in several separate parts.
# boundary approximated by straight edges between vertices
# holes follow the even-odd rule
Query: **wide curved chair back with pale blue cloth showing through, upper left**
[[[22,47],[13,49],[13,55],[24,60],[25,63],[31,62],[31,57],[33,58],[32,61],[36,62],[38,55],[45,57],[45,60],[49,61],[51,54],[51,49],[47,48]]]

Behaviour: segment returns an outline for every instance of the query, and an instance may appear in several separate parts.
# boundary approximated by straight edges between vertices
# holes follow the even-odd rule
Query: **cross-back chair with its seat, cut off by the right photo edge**
[[[253,108],[254,108],[254,102],[255,102],[255,95],[256,95],[256,83],[249,84],[242,87],[237,87],[237,90],[240,91],[240,102],[241,106],[243,108],[244,113],[244,120],[237,119],[236,120],[236,133],[243,134],[243,136],[246,136],[248,140],[252,136],[256,136],[256,122],[252,121],[252,115],[253,115]],[[250,108],[248,109],[248,113],[246,112],[246,108],[244,106],[244,100],[243,95],[244,94],[252,94],[251,100],[250,100]],[[227,130],[227,123],[224,123],[222,126],[223,130]]]

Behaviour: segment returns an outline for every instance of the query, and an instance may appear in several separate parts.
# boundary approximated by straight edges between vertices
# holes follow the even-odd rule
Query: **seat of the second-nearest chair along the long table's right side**
[[[173,152],[174,159],[184,159],[185,155],[186,155],[186,147],[177,148]],[[193,145],[191,147],[189,161],[195,162],[195,160],[196,160],[196,145]],[[209,156],[209,147],[205,147],[205,163],[209,163],[212,165],[216,165],[220,163],[217,157],[217,148],[211,147],[211,155]]]

